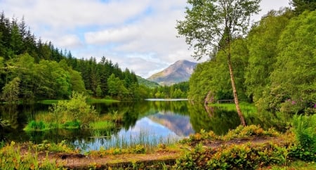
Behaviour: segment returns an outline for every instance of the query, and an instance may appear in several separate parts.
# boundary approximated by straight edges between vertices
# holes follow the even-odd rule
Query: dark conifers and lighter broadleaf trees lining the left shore
[[[98,98],[147,98],[136,74],[105,57],[77,59],[70,51],[37,39],[21,21],[0,15],[1,99],[41,100],[68,98],[72,91]]]

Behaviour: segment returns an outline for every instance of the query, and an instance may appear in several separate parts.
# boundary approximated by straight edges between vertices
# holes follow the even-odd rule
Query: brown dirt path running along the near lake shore
[[[249,139],[233,139],[229,141],[223,140],[204,140],[204,147],[218,148],[220,145],[242,145],[244,143],[251,143],[253,145],[259,145],[264,143],[270,143],[278,140],[275,137],[254,137]],[[91,157],[81,154],[63,154],[57,152],[39,152],[38,159],[44,161],[49,159],[56,164],[62,164],[68,169],[88,169],[93,167],[96,169],[107,169],[108,167],[115,168],[128,168],[133,167],[135,164],[154,165],[159,162],[165,164],[174,164],[176,159],[184,154],[185,150],[193,150],[197,143],[191,143],[191,146],[179,146],[182,151],[169,151],[158,150],[154,153],[147,154],[123,154],[123,155],[105,155],[103,157]]]

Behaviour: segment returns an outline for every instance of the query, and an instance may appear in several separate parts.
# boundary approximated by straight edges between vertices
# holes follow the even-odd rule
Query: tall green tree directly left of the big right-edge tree
[[[275,47],[291,19],[291,13],[288,9],[270,11],[249,32],[249,65],[244,77],[247,94],[254,102],[262,96],[265,86],[270,84],[271,66],[276,62],[278,53]]]

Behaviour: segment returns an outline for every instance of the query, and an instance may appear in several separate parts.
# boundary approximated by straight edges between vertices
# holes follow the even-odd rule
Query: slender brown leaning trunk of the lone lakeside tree
[[[246,126],[246,122],[244,121],[244,115],[242,115],[242,110],[239,107],[239,100],[237,96],[234,72],[232,70],[232,61],[230,60],[230,46],[228,47],[228,67],[230,69],[230,81],[232,81],[232,93],[234,95],[236,110],[240,119],[240,123],[242,124],[242,126]]]

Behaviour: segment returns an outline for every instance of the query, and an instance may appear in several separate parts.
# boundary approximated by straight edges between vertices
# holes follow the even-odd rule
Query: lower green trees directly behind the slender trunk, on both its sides
[[[235,68],[235,82],[239,99],[246,100],[246,89],[244,86],[244,67],[248,63],[246,41],[235,39],[232,41],[232,67]],[[233,99],[230,72],[227,69],[227,59],[223,52],[216,54],[215,58],[200,63],[195,68],[190,78],[190,100],[203,101],[209,94],[209,103],[217,100]]]

